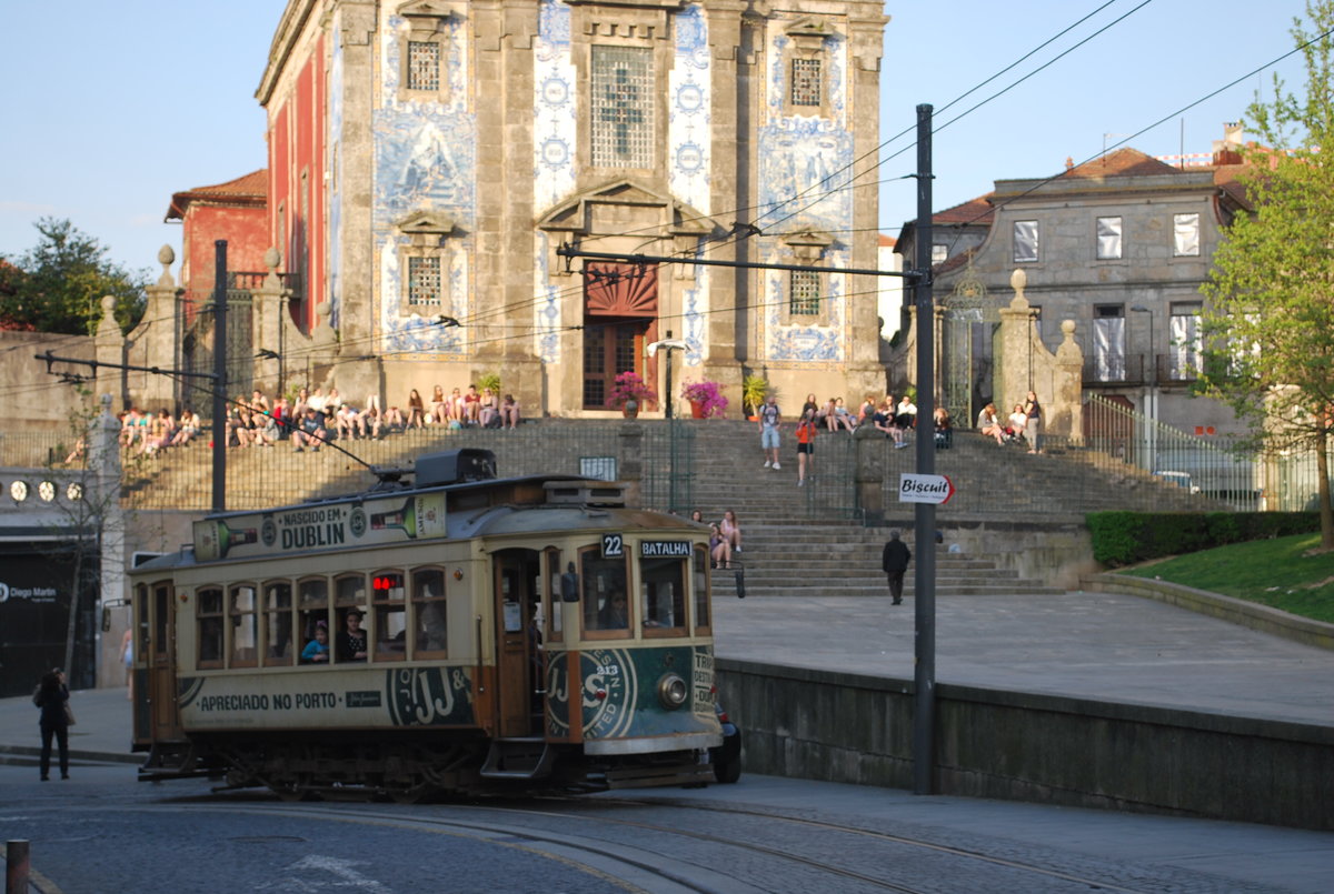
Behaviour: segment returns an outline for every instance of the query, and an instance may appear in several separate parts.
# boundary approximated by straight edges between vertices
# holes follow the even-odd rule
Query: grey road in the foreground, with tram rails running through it
[[[9,759],[19,759],[11,757]],[[582,798],[287,803],[125,765],[0,766],[36,891],[1303,891],[1334,835],[768,777]]]

